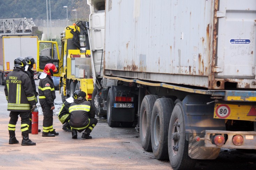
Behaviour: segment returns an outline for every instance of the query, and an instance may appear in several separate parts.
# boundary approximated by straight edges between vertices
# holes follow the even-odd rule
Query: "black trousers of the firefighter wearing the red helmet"
[[[46,100],[39,100],[39,103],[44,114],[43,132],[48,133],[53,131],[53,110],[51,110],[51,105]]]

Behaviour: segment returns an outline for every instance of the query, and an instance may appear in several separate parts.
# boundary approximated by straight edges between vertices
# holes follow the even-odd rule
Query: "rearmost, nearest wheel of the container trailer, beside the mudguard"
[[[168,132],[168,152],[174,170],[194,168],[196,160],[188,156],[188,141],[186,141],[185,118],[181,102],[177,102],[172,111]]]

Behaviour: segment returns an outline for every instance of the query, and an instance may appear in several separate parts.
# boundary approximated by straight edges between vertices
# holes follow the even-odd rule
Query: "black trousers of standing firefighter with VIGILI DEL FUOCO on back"
[[[9,114],[10,120],[9,120],[8,130],[15,130],[19,115],[21,117],[21,131],[28,130],[29,113],[30,111],[26,111],[26,112],[10,111],[10,114]]]

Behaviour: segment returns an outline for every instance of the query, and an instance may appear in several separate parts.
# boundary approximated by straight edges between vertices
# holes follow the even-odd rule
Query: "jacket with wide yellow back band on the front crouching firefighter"
[[[84,129],[87,128],[90,123],[90,118],[95,117],[95,111],[91,102],[86,101],[83,97],[74,99],[69,107],[70,120],[69,125],[72,128]]]

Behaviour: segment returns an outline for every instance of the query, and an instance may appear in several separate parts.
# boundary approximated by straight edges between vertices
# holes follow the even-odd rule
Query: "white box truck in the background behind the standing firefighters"
[[[0,36],[0,85],[5,76],[13,71],[17,57],[32,56],[37,61],[38,35],[1,35]],[[36,65],[32,70],[36,70]]]

